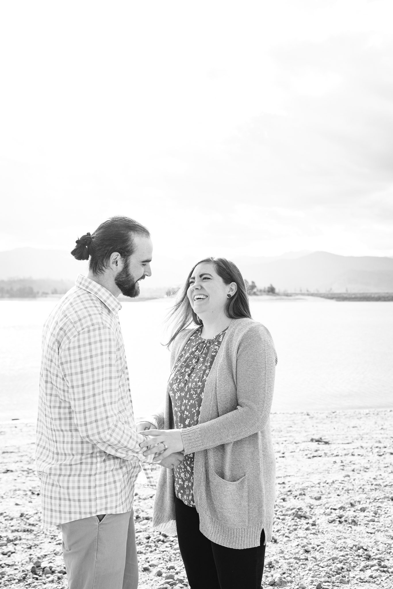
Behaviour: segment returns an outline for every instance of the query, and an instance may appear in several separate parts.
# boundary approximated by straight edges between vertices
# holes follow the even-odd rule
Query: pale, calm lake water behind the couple
[[[41,330],[55,299],[0,301],[0,421],[34,420]],[[136,416],[163,401],[169,353],[160,345],[170,300],[123,303]],[[393,407],[393,302],[251,300],[279,363],[273,411]]]

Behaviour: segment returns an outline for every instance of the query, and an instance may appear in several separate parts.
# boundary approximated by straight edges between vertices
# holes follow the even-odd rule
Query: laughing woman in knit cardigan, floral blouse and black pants
[[[156,461],[174,465],[161,469],[153,525],[177,532],[191,589],[259,589],[275,500],[272,337],[223,258],[194,266],[171,316],[165,412],[140,424],[162,428],[144,454],[164,450]]]

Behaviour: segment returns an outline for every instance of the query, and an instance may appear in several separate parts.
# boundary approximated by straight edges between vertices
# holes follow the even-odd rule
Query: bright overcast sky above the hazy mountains
[[[393,255],[393,5],[2,2],[0,250]]]

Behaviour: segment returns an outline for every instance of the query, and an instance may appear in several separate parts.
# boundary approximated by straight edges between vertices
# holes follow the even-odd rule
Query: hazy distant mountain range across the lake
[[[169,258],[154,253],[153,276],[141,282],[141,294],[150,289],[182,283],[196,260]],[[279,257],[233,258],[245,279],[259,288],[270,283],[288,292],[393,292],[393,258],[337,256],[327,252],[292,252]],[[87,262],[78,262],[61,250],[32,247],[0,252],[0,280],[10,278],[75,280],[87,273]],[[157,291],[158,292],[158,291]]]

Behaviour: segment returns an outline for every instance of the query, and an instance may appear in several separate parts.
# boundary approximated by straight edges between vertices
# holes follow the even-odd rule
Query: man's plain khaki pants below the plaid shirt
[[[70,589],[137,589],[134,512],[61,524]]]

